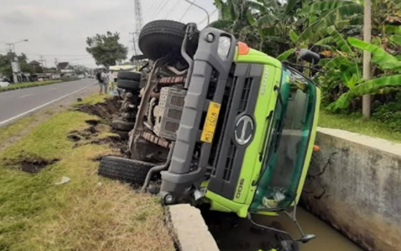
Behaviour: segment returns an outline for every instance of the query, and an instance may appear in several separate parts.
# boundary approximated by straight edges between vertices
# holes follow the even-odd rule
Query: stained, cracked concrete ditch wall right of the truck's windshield
[[[401,250],[401,144],[318,128],[301,204],[367,250]]]

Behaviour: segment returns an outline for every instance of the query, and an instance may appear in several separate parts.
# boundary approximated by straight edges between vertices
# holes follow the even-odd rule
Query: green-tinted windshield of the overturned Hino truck
[[[304,168],[315,105],[314,84],[284,66],[251,210],[281,210],[294,201]]]

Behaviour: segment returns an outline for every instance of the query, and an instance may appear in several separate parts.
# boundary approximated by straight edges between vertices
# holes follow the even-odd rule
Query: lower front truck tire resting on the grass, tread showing
[[[135,159],[107,156],[100,161],[97,173],[101,176],[142,185],[154,164]]]

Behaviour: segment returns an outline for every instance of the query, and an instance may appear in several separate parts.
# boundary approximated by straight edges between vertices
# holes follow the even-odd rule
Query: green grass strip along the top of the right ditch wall
[[[319,126],[342,129],[401,143],[401,132],[389,130],[385,124],[373,118],[367,120],[358,113],[332,114],[320,110]]]

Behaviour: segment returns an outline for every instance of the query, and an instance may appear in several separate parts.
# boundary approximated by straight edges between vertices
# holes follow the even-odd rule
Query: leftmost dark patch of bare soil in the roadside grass
[[[24,152],[22,152],[18,158],[4,159],[6,166],[14,166],[27,173],[37,173],[41,169],[58,161],[60,161],[60,159],[44,159],[40,156],[28,155]]]

